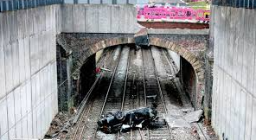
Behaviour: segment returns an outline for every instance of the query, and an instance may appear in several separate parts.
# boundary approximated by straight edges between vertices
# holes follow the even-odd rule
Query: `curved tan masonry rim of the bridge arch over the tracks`
[[[83,57],[83,59],[80,60],[80,66],[78,67],[81,67],[83,65],[86,58],[88,58],[92,54],[97,53],[101,49],[131,43],[135,43],[134,37],[118,37],[98,41],[90,47],[89,51],[86,50],[84,54],[86,54],[87,57]],[[204,70],[202,68],[202,62],[195,56],[195,54],[191,53],[188,49],[180,47],[178,44],[172,41],[167,41],[157,37],[150,37],[150,45],[161,48],[168,48],[171,51],[176,52],[176,54],[181,55],[185,60],[188,60],[191,66],[194,68],[198,80],[204,81]]]

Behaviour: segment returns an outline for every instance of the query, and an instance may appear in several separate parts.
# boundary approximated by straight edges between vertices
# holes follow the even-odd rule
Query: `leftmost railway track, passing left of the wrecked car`
[[[106,57],[106,59],[104,60],[107,62],[107,65],[102,65],[102,66],[109,67],[110,70],[113,70],[115,67],[112,67],[112,66],[118,65],[120,50],[121,48],[119,47],[115,50],[113,49],[112,51],[110,51],[109,57]],[[114,57],[116,57],[116,59],[112,60],[112,58]],[[111,77],[111,76],[112,76],[112,73],[102,72],[98,77],[97,80],[99,80],[99,85],[93,91],[94,95],[90,99],[88,99],[88,104],[86,104],[87,107],[84,109],[80,117],[79,124],[77,125],[75,132],[73,134],[74,135],[74,137],[72,137],[73,140],[74,139],[75,140],[90,139],[91,137],[93,137],[92,130],[97,129],[97,124],[95,123],[97,121],[97,118],[94,118],[94,120],[91,120],[93,118],[91,112],[93,111],[93,114],[97,114],[97,113],[99,114],[99,105],[104,99],[103,98],[104,94],[101,94],[101,90],[102,91],[106,90],[106,88],[104,87],[106,87],[106,83],[108,83],[107,81],[109,81],[108,79],[106,79],[106,77]],[[90,129],[87,129],[87,128],[90,128]]]

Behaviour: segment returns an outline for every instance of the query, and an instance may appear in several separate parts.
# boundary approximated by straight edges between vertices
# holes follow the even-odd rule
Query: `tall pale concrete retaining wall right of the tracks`
[[[220,139],[256,139],[256,10],[212,6],[212,124]]]

